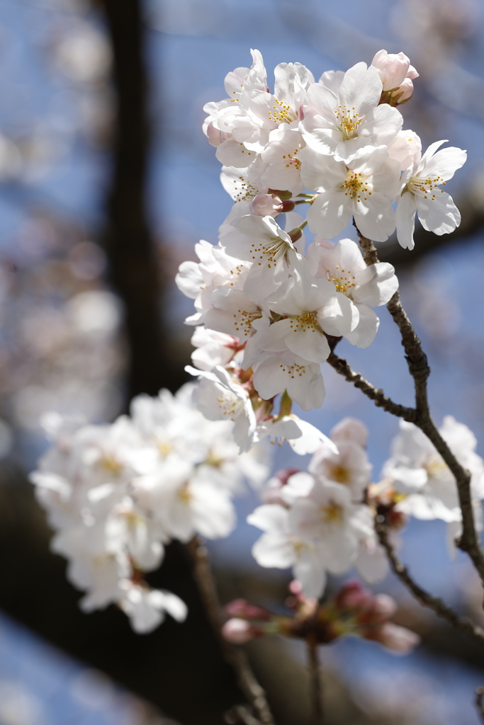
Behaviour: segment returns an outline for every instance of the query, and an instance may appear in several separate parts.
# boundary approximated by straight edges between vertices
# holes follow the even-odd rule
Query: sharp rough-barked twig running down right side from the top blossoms
[[[378,262],[377,250],[370,239],[366,239],[361,232],[358,231],[361,249],[364,253],[364,260],[367,265]],[[432,421],[429,411],[427,399],[427,378],[430,375],[430,368],[427,363],[427,356],[422,350],[420,342],[414,326],[411,324],[405,310],[400,302],[398,291],[395,292],[387,309],[392,315],[395,324],[398,326],[401,334],[403,349],[405,350],[406,361],[409,365],[409,373],[414,378],[415,386],[415,411],[416,416],[414,423],[434,444],[448,468],[454,474],[457,484],[457,493],[459,495],[459,505],[462,510],[462,536],[456,542],[459,549],[467,552],[472,560],[480,579],[484,584],[484,551],[480,544],[479,537],[475,528],[474,511],[472,508],[472,497],[470,492],[471,475],[456,459],[454,453],[450,450],[443,437],[440,435],[438,428]],[[378,405],[378,403],[377,403]],[[393,404],[395,406],[395,404]],[[386,408],[385,410],[388,410]],[[392,413],[393,410],[390,410]],[[394,413],[394,415],[403,415]],[[408,418],[406,418],[408,420]]]

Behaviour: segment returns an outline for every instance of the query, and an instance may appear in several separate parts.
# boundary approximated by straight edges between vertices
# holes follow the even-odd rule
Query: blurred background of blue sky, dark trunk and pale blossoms
[[[42,413],[112,421],[134,394],[184,382],[192,304],[173,277],[199,239],[216,243],[231,207],[202,106],[225,96],[224,75],[250,65],[251,47],[269,78],[279,62],[319,78],[403,51],[420,73],[404,128],[424,146],[467,149],[448,188],[460,228],[419,228],[414,252],[390,241],[380,258],[397,268],[430,359],[435,420],[467,423],[484,455],[483,22],[479,0],[0,0],[0,725],[217,725],[243,700],[183,547],[170,547],[152,583],[186,600],[185,624],[141,637],[114,609],[85,616],[26,476],[46,447]],[[372,347],[338,352],[410,403],[398,331],[380,316]],[[331,368],[324,378],[327,399],[308,419],[328,433],[362,418],[377,480],[397,421]],[[282,465],[305,460],[283,447]],[[250,557],[254,504],[239,502],[239,528],[210,551],[224,601],[274,607],[289,576]],[[451,560],[443,524],[412,522],[402,558],[482,624],[482,589],[464,555]],[[422,646],[406,658],[356,640],[324,648],[328,725],[477,725],[482,653],[392,577],[375,589],[398,599],[398,621]],[[268,639],[248,651],[278,725],[308,723],[300,647]]]

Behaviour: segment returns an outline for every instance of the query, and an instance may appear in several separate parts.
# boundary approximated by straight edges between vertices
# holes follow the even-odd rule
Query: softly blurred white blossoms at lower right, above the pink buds
[[[480,524],[484,461],[475,452],[475,436],[451,416],[440,434],[472,473],[472,501]],[[375,515],[385,517],[397,549],[398,531],[409,515],[448,522],[451,542],[461,533],[456,481],[422,431],[401,423],[393,455],[377,484],[372,483],[367,437],[364,423],[345,418],[331,431],[329,444],[314,453],[308,471],[280,471],[268,481],[263,505],[247,518],[264,532],[253,546],[258,564],[292,568],[308,597],[321,597],[327,573],[354,568],[367,584],[385,577],[388,564],[375,534]]]

